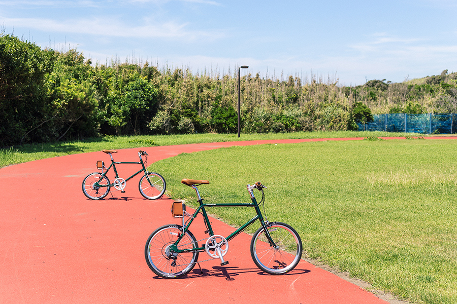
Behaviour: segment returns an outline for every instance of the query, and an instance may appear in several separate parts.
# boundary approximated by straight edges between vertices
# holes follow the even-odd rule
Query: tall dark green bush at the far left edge
[[[47,75],[52,72],[54,52],[12,35],[0,42],[0,144],[48,140],[51,120]],[[33,131],[33,132],[32,132]]]

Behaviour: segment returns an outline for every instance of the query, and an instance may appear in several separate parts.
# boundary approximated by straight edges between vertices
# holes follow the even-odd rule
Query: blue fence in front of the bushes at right
[[[358,124],[358,131],[385,131],[422,134],[457,133],[455,114],[380,114],[373,122]]]

